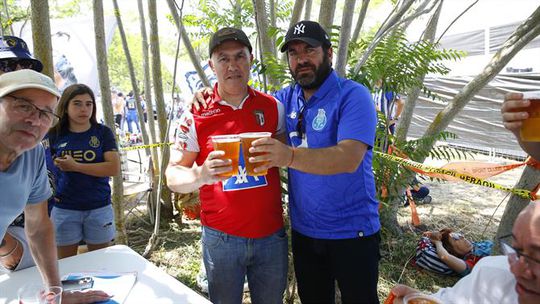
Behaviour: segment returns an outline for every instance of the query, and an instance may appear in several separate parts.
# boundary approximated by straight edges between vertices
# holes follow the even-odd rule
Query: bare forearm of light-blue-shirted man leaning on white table
[[[41,272],[43,281],[49,286],[60,285],[58,274],[58,258],[56,255],[56,242],[54,228],[51,220],[45,218],[38,229],[25,228],[30,251],[34,261]]]

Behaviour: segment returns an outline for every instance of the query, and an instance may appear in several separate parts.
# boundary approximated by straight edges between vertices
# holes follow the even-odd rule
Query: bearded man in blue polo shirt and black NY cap
[[[372,147],[377,115],[367,88],[332,69],[328,35],[316,22],[289,29],[295,84],[276,93],[285,105],[288,144],[254,142],[250,161],[289,167],[292,250],[300,299],[378,303],[380,222]]]

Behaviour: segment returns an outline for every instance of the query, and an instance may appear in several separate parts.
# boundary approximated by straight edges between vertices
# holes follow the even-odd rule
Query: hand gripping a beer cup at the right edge
[[[526,108],[530,104],[529,100],[523,99],[521,93],[508,93],[504,97],[501,107],[503,124],[505,128],[512,131],[516,136],[519,135],[523,121],[529,118]]]

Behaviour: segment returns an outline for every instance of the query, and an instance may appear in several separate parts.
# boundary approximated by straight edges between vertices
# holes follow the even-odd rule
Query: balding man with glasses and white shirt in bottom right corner
[[[433,296],[443,303],[540,303],[540,202],[525,208],[512,234],[499,241],[505,256],[483,258],[471,274]],[[405,285],[395,286],[394,303],[415,292]]]

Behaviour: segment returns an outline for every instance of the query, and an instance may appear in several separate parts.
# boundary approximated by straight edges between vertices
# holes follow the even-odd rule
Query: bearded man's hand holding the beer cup
[[[272,167],[287,167],[291,165],[294,158],[293,148],[285,145],[275,138],[261,138],[251,143],[250,153],[265,153],[263,155],[250,157],[247,161],[251,163],[266,162],[264,165],[254,169],[255,172],[262,172]]]

